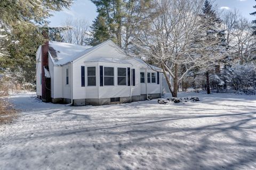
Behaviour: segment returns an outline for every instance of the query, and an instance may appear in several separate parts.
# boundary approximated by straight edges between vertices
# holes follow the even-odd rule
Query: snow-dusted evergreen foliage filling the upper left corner
[[[1,40],[3,36],[0,36],[0,47],[2,49],[4,41],[7,52],[2,53],[1,50],[1,70],[27,70],[25,80],[34,82],[31,77],[35,77],[35,53],[37,47],[45,41],[40,27],[47,27],[46,19],[52,11],[60,11],[72,3],[73,0],[1,0],[0,30],[5,30],[5,40]],[[31,77],[28,78],[28,75]]]

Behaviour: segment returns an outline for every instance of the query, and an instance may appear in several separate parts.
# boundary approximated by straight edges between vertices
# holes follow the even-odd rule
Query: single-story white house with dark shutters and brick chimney
[[[36,93],[44,102],[105,105],[162,94],[160,69],[126,56],[111,40],[94,47],[50,41],[36,61]]]

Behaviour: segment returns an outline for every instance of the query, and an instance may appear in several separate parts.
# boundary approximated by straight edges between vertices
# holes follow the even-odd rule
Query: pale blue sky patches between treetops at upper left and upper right
[[[256,16],[251,16],[249,13],[256,11],[253,5],[256,5],[255,0],[215,0],[219,10],[232,10],[237,8],[241,14],[248,18],[250,21],[256,19]],[[89,0],[76,0],[70,7],[70,10],[63,10],[61,12],[53,13],[49,21],[52,27],[62,25],[67,18],[85,19],[89,24],[96,18],[97,12],[95,5]]]

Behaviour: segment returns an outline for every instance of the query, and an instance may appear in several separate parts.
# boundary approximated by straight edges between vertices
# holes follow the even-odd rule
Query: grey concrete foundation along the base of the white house
[[[161,98],[161,94],[148,94],[149,98]],[[101,98],[101,99],[74,99],[74,106],[85,106],[85,105],[110,105],[110,104],[118,104],[118,103],[130,103],[131,101],[142,101],[146,100],[146,95],[140,96],[132,96],[132,100],[130,97],[120,97],[120,101],[111,102],[110,98]],[[62,103],[62,104],[70,104],[71,99],[67,98],[52,98],[52,103]]]

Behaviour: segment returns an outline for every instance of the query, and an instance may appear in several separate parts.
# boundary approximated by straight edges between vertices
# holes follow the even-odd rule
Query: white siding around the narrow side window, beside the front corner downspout
[[[68,69],[68,79],[69,79],[68,84],[66,84],[66,69]],[[68,64],[62,66],[62,86],[63,86],[62,94],[63,94],[63,98],[71,99],[71,82],[72,82],[71,63],[68,63]]]

